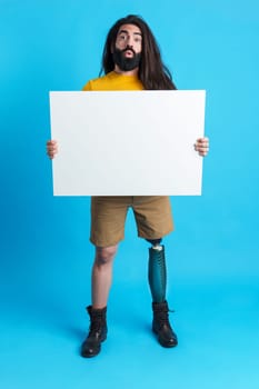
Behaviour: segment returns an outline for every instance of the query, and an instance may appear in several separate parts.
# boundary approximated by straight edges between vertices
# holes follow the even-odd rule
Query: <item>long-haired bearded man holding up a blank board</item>
[[[103,49],[102,71],[104,76],[89,81],[83,87],[84,91],[176,89],[169,70],[161,61],[151,30],[137,16],[122,18],[110,29]],[[198,139],[195,149],[205,157],[209,150],[208,139]],[[48,141],[47,152],[50,159],[54,158],[58,142]],[[151,243],[148,279],[152,296],[152,330],[162,347],[170,348],[178,343],[168,317],[166,258],[161,245],[162,238],[173,228],[169,198],[93,197],[90,240],[96,246],[96,258],[92,267],[92,301],[87,308],[90,330],[81,347],[81,355],[86,358],[97,356],[101,342],[107,338],[106,312],[112,263],[118,245],[123,239],[126,215],[130,207],[135,213],[138,236]]]

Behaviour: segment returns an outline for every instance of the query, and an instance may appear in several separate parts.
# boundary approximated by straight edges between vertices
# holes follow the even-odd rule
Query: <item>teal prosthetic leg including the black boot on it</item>
[[[152,295],[152,331],[157,335],[162,347],[175,347],[178,345],[177,335],[173,332],[168,317],[168,303],[166,301],[167,269],[165,258],[165,246],[161,239],[148,240],[152,247],[149,249],[149,286]]]

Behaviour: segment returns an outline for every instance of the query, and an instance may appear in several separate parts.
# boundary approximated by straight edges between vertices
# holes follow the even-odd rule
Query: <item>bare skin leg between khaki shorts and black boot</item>
[[[112,265],[118,246],[96,248],[96,259],[92,267],[92,308],[107,307],[112,280]]]

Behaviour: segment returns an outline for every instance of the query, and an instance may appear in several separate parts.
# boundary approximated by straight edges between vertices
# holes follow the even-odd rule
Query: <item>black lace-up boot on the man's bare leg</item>
[[[107,338],[107,322],[106,312],[107,307],[102,309],[93,309],[91,306],[87,307],[90,316],[89,335],[81,346],[81,356],[91,358],[101,351],[101,342]]]

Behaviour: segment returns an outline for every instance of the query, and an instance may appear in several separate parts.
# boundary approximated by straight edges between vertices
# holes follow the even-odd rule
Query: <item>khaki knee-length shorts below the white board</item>
[[[122,240],[129,208],[133,210],[140,238],[159,239],[172,231],[167,196],[92,197],[90,241],[97,247],[110,247]]]

